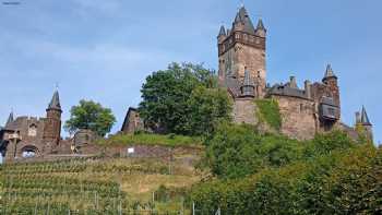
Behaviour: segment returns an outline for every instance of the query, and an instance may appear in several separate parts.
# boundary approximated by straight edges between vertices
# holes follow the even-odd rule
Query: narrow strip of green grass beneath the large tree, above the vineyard
[[[100,145],[160,145],[167,147],[202,147],[202,139],[175,134],[117,134],[98,141]]]

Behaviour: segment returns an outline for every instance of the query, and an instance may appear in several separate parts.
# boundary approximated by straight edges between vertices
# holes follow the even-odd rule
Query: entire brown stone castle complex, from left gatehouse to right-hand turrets
[[[294,139],[312,139],[314,134],[339,129],[354,139],[363,132],[372,140],[372,124],[365,107],[356,112],[355,127],[341,121],[338,77],[329,64],[321,82],[305,82],[299,88],[296,77],[285,84],[266,83],[266,28],[259,20],[254,27],[246,8],[236,14],[231,28],[220,27],[217,36],[218,80],[234,101],[236,123],[261,124],[256,100],[276,100],[282,118],[279,132]],[[5,160],[47,155],[71,154],[92,144],[92,132],[80,130],[73,139],[61,138],[61,105],[56,91],[46,109],[46,118],[17,117],[13,112],[0,128],[0,153]],[[136,109],[129,108],[121,132],[144,129]],[[94,150],[96,151],[96,150]],[[86,152],[85,152],[86,153]]]

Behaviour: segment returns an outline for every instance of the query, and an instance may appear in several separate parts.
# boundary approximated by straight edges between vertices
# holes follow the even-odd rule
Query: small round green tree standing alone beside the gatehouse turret
[[[79,129],[88,129],[99,136],[105,136],[116,122],[111,109],[104,108],[99,103],[93,100],[80,100],[79,106],[71,108],[70,115],[64,129],[71,133]]]

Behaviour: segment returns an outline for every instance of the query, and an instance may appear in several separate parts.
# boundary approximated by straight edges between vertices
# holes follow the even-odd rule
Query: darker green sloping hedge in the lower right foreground
[[[248,134],[243,136],[250,139]],[[286,144],[290,147],[290,143]],[[298,148],[294,159],[284,165],[268,163],[252,176],[234,180],[223,177],[224,180],[194,186],[191,199],[198,212],[213,214],[222,208],[223,214],[382,213],[381,150],[355,145],[341,132],[318,135]],[[235,158],[230,160],[237,164]],[[266,156],[261,163],[267,163]]]

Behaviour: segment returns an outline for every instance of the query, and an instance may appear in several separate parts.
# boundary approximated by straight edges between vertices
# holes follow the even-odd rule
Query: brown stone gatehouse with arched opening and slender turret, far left
[[[56,91],[45,118],[17,117],[10,114],[0,129],[0,152],[5,160],[57,154],[69,145],[61,139],[61,105]]]

